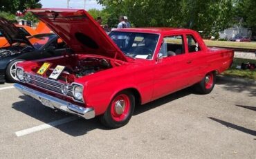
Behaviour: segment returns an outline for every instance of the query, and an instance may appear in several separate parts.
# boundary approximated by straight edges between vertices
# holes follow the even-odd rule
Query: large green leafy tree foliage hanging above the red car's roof
[[[98,0],[111,19],[127,15],[136,27],[183,27],[217,35],[232,21],[234,0]]]

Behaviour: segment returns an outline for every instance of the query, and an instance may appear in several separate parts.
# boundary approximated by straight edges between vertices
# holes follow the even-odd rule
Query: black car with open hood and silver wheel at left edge
[[[0,48],[0,82],[17,82],[17,64],[26,60],[43,59],[62,55],[66,44],[53,33],[27,37],[20,28],[0,18],[0,32],[8,46]]]

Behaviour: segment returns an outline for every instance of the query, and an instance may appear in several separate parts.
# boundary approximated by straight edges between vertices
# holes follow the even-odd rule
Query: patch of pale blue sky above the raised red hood
[[[67,0],[41,0],[43,8],[67,8]],[[84,0],[69,0],[70,8],[84,8]],[[102,6],[97,4],[95,0],[86,0],[85,9],[102,9]]]

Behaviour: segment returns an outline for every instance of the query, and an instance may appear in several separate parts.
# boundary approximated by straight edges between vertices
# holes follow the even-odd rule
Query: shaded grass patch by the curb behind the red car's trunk
[[[244,62],[250,62],[253,64],[256,64],[256,59],[239,59],[235,58],[234,63],[231,68],[229,68],[227,71],[223,72],[223,75],[233,76],[233,77],[244,77],[248,79],[255,79],[256,80],[256,69],[254,71],[250,71],[248,69],[241,70],[237,69],[237,65],[241,66],[241,63]]]

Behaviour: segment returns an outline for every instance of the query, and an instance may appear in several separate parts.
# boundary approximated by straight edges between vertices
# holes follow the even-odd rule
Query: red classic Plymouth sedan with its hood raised
[[[232,50],[207,48],[193,30],[127,28],[108,36],[84,10],[32,12],[71,49],[20,63],[15,87],[52,109],[99,115],[110,128],[127,124],[135,106],[183,88],[210,93],[216,73],[232,64]]]

